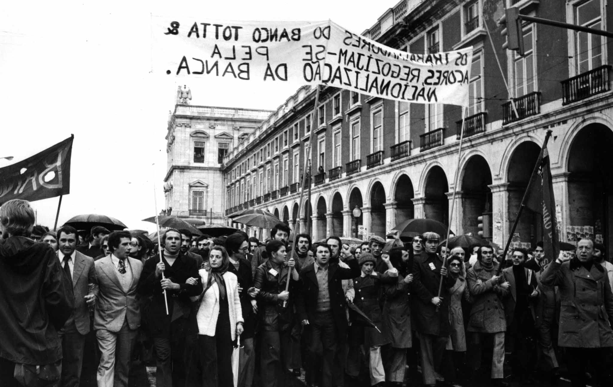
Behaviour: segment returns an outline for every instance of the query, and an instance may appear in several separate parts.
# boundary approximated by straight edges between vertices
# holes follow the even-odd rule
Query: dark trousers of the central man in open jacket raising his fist
[[[313,321],[309,321],[311,325],[311,359],[316,356],[318,345],[321,343],[323,350],[322,369],[321,369],[321,387],[332,386],[332,373],[340,372],[340,364],[334,364],[335,354],[337,353],[337,328],[334,323],[334,317],[331,311],[316,312]],[[311,370],[315,372],[315,370]],[[336,379],[336,377],[335,377]]]

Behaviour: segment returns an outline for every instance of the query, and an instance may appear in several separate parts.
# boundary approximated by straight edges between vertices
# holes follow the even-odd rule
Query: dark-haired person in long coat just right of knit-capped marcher
[[[389,259],[398,270],[398,280],[384,285],[383,329],[392,339],[389,348],[389,361],[386,364],[386,379],[390,385],[401,386],[405,380],[406,350],[412,347],[411,306],[409,291],[413,282],[413,249],[394,247],[389,251]]]

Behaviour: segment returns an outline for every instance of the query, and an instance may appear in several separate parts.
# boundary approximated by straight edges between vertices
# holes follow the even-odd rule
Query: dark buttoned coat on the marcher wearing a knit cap
[[[373,274],[356,277],[353,280],[353,288],[356,297],[353,299],[354,305],[360,308],[365,315],[370,318],[379,328],[381,333],[370,326],[364,327],[364,344],[367,347],[380,347],[391,342],[389,332],[383,328],[383,317],[379,296],[381,295],[381,285],[383,283],[396,282],[398,272],[394,274]]]

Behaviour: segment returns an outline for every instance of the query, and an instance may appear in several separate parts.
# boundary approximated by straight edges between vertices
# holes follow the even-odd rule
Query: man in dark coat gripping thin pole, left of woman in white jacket
[[[145,261],[138,291],[152,297],[146,317],[156,353],[156,386],[185,385],[185,331],[191,312],[190,296],[202,290],[196,259],[185,255],[181,248],[181,232],[168,229],[161,239],[162,261]],[[162,273],[164,279],[162,279]],[[195,282],[186,283],[188,278]],[[168,314],[166,314],[166,301]]]

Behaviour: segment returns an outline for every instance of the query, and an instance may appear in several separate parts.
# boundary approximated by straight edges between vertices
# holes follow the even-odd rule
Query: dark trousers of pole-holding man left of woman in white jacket
[[[156,386],[185,385],[185,318],[170,323],[170,333],[153,337],[156,353]]]

